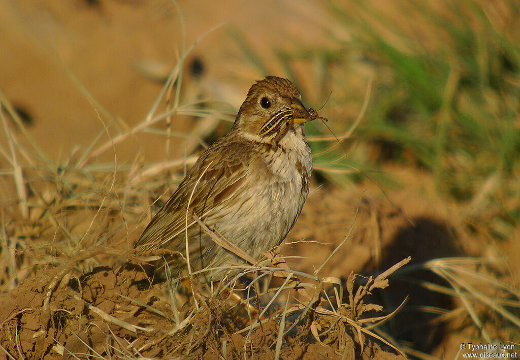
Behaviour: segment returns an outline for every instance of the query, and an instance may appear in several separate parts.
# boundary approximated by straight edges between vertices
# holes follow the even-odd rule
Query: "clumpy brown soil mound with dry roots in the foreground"
[[[250,335],[239,332],[247,320],[225,299],[199,299],[199,309],[191,315],[193,306],[185,304],[179,316],[189,323],[176,327],[167,297],[158,287],[143,285],[146,274],[139,268],[115,274],[106,266],[86,274],[62,275],[56,269],[38,272],[33,281],[2,298],[0,343],[8,353],[45,359],[94,355],[218,359],[226,344],[228,358],[241,358],[244,352],[261,359],[275,356],[279,324],[269,320]],[[321,322],[328,324],[326,318]],[[361,351],[345,326],[334,328],[327,345],[309,343],[308,333],[306,326],[300,326],[294,336],[287,337],[281,358],[404,358],[381,350],[372,341]]]

